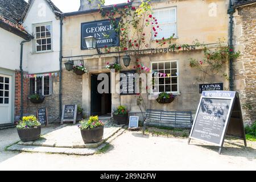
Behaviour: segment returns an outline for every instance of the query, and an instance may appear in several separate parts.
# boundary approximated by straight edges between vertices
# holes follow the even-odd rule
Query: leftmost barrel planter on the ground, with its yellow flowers
[[[40,138],[41,124],[34,115],[23,117],[16,128],[22,142],[32,142]]]

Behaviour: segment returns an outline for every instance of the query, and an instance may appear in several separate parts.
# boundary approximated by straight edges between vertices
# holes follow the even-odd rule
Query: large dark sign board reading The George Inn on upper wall
[[[119,21],[119,19],[117,19]],[[118,47],[119,34],[114,30],[110,20],[85,22],[81,24],[81,49],[87,49],[84,38],[93,36],[97,39],[97,47]]]

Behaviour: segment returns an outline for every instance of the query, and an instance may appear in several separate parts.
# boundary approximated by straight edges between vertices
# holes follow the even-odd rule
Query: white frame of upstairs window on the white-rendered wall
[[[52,36],[52,22],[46,22],[46,23],[36,23],[36,24],[32,24],[33,26],[33,30],[34,30],[34,43],[33,43],[33,52],[34,53],[44,53],[44,52],[52,52],[53,51],[53,36]],[[36,39],[36,27],[40,27],[40,26],[51,26],[51,36],[49,38],[51,38],[51,50],[46,50],[46,51],[37,51],[36,49],[36,40],[39,40],[39,39]],[[46,38],[46,39],[49,39],[49,38]],[[41,39],[41,38],[40,38]],[[47,40],[46,40],[47,41]],[[46,47],[47,48],[47,47]]]

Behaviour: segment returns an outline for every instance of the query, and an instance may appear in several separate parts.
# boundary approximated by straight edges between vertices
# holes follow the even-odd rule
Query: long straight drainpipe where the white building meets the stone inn
[[[60,15],[60,80],[59,80],[59,117],[61,118],[62,114],[62,38],[63,38],[63,18],[64,16]]]

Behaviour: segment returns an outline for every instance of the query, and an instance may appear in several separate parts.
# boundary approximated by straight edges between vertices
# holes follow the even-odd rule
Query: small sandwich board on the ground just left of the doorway
[[[64,105],[63,111],[61,115],[61,125],[63,122],[73,122],[76,124],[76,113],[77,113],[77,105]]]

